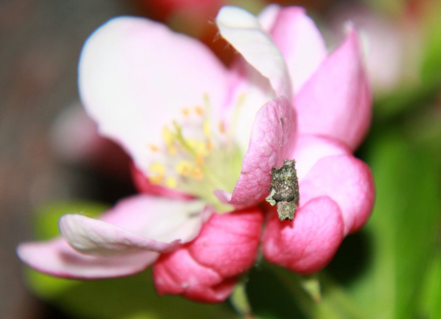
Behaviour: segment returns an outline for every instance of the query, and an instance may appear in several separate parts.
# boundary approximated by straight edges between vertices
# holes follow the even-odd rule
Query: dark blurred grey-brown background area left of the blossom
[[[15,255],[19,242],[32,239],[37,205],[124,195],[104,198],[113,180],[58,160],[49,130],[60,110],[78,101],[83,42],[106,20],[134,12],[128,1],[0,1],[0,318],[66,318],[26,291]]]

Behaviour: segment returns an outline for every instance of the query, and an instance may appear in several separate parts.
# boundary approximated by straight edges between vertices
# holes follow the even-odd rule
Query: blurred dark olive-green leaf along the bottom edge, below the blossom
[[[158,296],[151,271],[127,278],[81,281],[53,302],[81,319],[230,319],[228,304],[200,304],[180,296]]]

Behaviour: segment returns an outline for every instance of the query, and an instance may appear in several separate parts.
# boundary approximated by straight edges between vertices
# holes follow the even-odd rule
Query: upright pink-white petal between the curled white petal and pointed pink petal
[[[270,34],[288,65],[293,92],[298,93],[327,56],[320,30],[304,8],[290,6],[280,9]]]

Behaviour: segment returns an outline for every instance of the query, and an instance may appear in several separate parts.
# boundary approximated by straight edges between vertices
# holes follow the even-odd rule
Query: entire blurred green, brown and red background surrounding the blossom
[[[0,1],[0,318],[235,318],[228,302],[158,298],[149,272],[67,281],[25,269],[19,242],[58,233],[62,214],[98,214],[135,192],[128,158],[82,111],[82,44],[117,15],[146,16],[213,42],[224,4],[257,14],[265,0]],[[302,281],[263,264],[247,292],[260,318],[441,318],[441,3],[437,0],[285,0],[314,18],[332,51],[351,20],[374,92],[371,131],[356,155],[373,170],[374,213],[319,274],[320,302]],[[303,282],[304,283],[304,282]]]

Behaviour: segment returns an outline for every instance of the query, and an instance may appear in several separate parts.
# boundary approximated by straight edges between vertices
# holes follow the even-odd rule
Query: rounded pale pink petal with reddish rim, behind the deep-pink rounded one
[[[329,196],[339,206],[344,234],[354,233],[367,221],[374,205],[374,180],[369,167],[352,155],[321,158],[299,181],[300,206]]]

